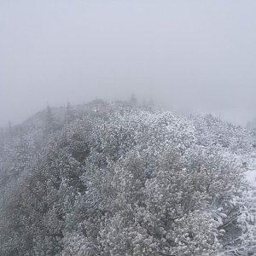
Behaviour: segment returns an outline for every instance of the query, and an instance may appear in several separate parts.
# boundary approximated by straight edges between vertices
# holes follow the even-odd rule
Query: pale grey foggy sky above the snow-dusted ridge
[[[255,0],[0,0],[0,125],[95,98],[256,116]]]

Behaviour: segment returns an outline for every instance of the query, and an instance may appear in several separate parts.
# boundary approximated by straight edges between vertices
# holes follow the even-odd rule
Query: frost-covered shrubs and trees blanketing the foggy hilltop
[[[0,255],[256,255],[256,132],[130,102],[0,134]]]

